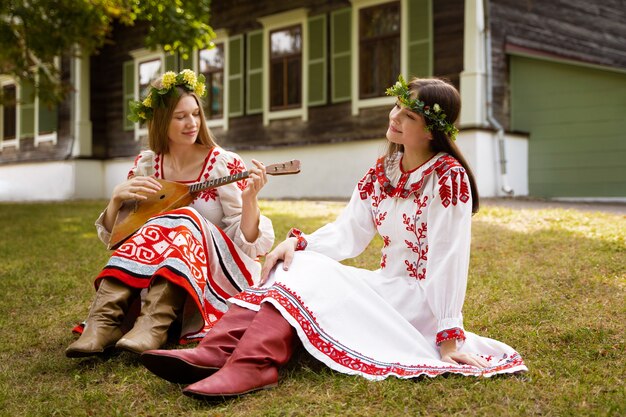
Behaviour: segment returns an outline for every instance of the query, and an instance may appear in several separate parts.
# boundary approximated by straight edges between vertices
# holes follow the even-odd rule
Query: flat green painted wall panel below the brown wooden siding
[[[511,56],[511,128],[530,133],[529,192],[626,197],[626,74]]]

